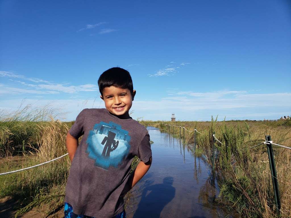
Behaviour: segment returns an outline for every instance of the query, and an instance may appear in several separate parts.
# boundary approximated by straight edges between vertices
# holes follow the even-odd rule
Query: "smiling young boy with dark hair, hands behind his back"
[[[65,218],[126,217],[123,197],[152,162],[148,131],[128,113],[136,94],[129,72],[119,67],[108,69],[98,85],[106,109],[82,110],[67,134],[72,165]],[[129,176],[134,156],[141,162]]]

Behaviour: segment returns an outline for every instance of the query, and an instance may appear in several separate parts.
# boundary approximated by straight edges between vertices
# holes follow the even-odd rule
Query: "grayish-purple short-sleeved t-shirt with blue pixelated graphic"
[[[83,137],[72,160],[65,202],[75,214],[114,217],[124,209],[134,156],[143,162],[152,156],[148,131],[132,118],[119,119],[102,108],[82,110],[69,133]]]

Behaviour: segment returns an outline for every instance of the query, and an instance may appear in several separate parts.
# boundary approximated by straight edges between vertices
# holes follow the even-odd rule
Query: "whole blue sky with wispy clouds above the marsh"
[[[132,117],[291,115],[290,1],[0,1],[0,109],[104,107],[97,80],[127,69]],[[63,118],[63,117],[60,117]]]

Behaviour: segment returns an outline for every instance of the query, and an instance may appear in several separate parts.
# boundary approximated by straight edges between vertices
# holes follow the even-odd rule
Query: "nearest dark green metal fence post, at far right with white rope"
[[[270,135],[265,135],[265,137],[266,137],[266,141],[272,141]],[[276,206],[277,213],[280,214],[280,210],[281,210],[280,191],[279,191],[279,184],[278,184],[278,179],[277,179],[276,164],[274,160],[273,146],[271,143],[267,144],[267,151],[268,151],[269,164],[270,164],[270,170],[271,170],[271,175],[272,175],[275,206]]]

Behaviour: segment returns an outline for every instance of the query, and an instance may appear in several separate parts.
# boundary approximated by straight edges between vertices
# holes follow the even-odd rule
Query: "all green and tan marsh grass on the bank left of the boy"
[[[0,112],[0,173],[37,165],[67,153],[74,122],[55,120],[59,110],[26,105]],[[81,139],[79,139],[81,140]],[[134,158],[132,171],[139,159]],[[32,169],[0,176],[0,198],[17,199],[15,217],[33,208],[48,214],[62,208],[70,159],[65,156]]]

